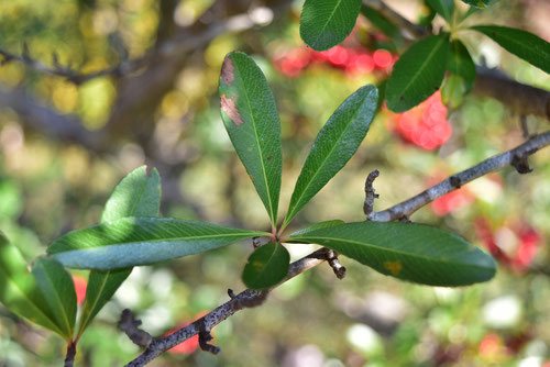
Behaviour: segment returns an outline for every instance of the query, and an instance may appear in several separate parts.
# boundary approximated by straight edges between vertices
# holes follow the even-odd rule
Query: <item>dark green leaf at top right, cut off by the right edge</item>
[[[472,30],[493,38],[514,55],[550,74],[550,43],[532,33],[497,25],[476,25]]]

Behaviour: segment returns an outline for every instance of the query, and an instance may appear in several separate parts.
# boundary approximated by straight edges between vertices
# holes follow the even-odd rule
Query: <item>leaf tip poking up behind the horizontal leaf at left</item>
[[[124,216],[157,216],[161,207],[161,177],[153,168],[135,168],[114,188],[107,201],[101,222]]]

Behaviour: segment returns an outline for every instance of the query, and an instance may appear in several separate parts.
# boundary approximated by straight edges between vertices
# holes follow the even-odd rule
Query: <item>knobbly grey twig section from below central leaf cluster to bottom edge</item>
[[[316,267],[317,265],[323,262],[332,262],[332,263],[336,262],[339,265],[338,260],[336,260],[336,254],[328,248],[320,248],[309,254],[308,256],[302,257],[299,260],[296,260],[293,264],[290,264],[288,274],[280,281],[280,283]],[[340,267],[339,271],[341,271]],[[333,269],[334,271],[337,271],[334,267]],[[219,305],[205,316],[198,319],[197,321],[193,322],[187,326],[179,329],[178,331],[176,331],[170,335],[154,338],[150,343],[148,347],[140,356],[130,362],[127,365],[127,367],[144,366],[154,358],[158,357],[162,353],[168,351],[169,348],[178,345],[182,342],[185,342],[189,337],[197,334],[199,334],[199,338],[202,340],[204,342],[202,343],[204,345],[201,344],[202,349],[207,349],[208,352],[212,353],[218,353],[219,348],[206,343],[209,341],[209,337],[211,337],[210,331],[216,325],[218,325],[229,316],[233,315],[238,311],[262,304],[267,298],[270,290],[271,289],[268,290],[246,289],[237,296],[233,294],[232,290],[229,290],[231,299],[228,302]]]

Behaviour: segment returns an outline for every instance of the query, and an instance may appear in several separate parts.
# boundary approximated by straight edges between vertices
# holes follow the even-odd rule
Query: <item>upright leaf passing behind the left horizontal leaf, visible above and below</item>
[[[105,207],[101,222],[125,216],[158,216],[160,205],[158,171],[147,171],[146,167],[142,166],[128,174],[114,188]],[[82,334],[131,273],[132,268],[90,271],[78,335]]]

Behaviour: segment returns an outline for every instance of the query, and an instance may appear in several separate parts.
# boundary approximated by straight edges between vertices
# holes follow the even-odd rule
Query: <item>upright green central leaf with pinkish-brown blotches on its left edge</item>
[[[254,60],[237,52],[226,56],[219,92],[229,137],[275,226],[283,157],[273,93]]]

